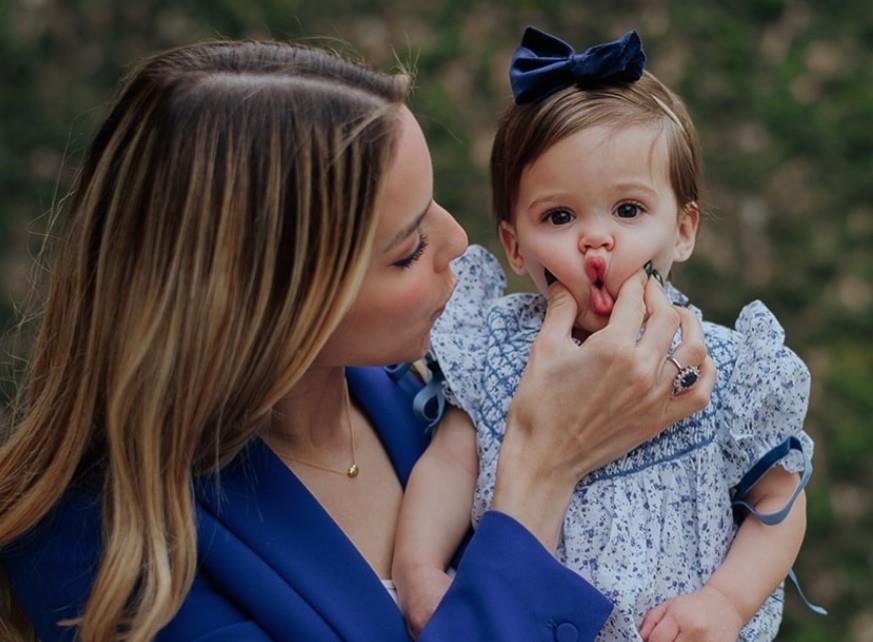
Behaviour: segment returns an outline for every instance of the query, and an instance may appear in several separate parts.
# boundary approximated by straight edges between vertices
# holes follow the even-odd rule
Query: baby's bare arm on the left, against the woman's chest
[[[398,518],[391,574],[414,636],[451,584],[445,570],[470,528],[478,474],[476,430],[449,408],[412,469]]]

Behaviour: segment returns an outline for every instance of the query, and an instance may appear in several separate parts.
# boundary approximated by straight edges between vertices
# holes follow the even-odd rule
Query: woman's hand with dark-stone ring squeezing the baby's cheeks
[[[557,544],[580,479],[706,407],[715,383],[700,323],[642,270],[622,286],[609,324],[581,346],[571,335],[575,319],[575,300],[552,284],[543,328],[509,409],[492,502],[548,548]],[[666,356],[680,327],[674,356],[698,366],[700,378],[674,396],[676,366]]]

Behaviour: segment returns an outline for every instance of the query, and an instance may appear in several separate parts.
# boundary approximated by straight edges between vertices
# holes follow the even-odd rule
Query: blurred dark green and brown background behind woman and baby
[[[816,472],[796,568],[831,614],[805,611],[788,589],[780,639],[873,641],[870,0],[0,0],[0,327],[15,321],[47,212],[119,78],[144,54],[196,40],[302,38],[382,69],[414,63],[437,198],[471,241],[499,251],[487,160],[529,23],[580,49],[635,28],[648,68],[688,103],[711,216],[675,281],[726,324],[764,300],[813,372]],[[8,362],[11,335],[2,341]]]

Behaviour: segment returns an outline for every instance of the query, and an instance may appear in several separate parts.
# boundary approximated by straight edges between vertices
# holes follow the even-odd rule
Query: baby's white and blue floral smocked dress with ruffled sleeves
[[[471,246],[453,268],[458,287],[433,330],[432,351],[448,401],[476,426],[476,524],[491,501],[509,403],[546,301],[538,294],[503,296],[502,269],[481,247]],[[688,304],[672,286],[667,291]],[[784,346],[770,311],[756,301],[742,310],[736,329],[709,322],[703,328],[718,370],[709,406],[582,480],[564,520],[559,559],[615,604],[601,641],[640,640],[649,609],[703,586],[736,533],[732,493],[763,455],[791,436],[802,451],[779,464],[800,472],[812,455],[803,431],[809,372]],[[772,640],[782,598],[780,586],[740,639]]]

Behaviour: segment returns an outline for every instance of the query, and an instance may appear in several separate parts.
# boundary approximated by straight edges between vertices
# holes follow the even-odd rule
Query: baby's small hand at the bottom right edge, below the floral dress
[[[736,642],[743,618],[721,591],[704,586],[646,613],[640,625],[645,642]]]

